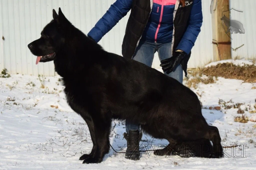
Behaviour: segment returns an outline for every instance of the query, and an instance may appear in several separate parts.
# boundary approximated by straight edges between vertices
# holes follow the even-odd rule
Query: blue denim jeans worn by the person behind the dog
[[[140,42],[132,59],[151,67],[155,52],[158,52],[160,61],[170,58],[172,56],[171,43]],[[166,74],[166,72],[164,72],[164,74],[178,80],[182,84],[183,70],[181,65],[178,65],[170,74]],[[126,133],[128,133],[129,130],[140,130],[140,125],[134,125],[126,120],[125,129]]]

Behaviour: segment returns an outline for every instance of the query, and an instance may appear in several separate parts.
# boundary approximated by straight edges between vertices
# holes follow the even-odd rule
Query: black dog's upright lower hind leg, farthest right
[[[221,146],[220,133],[217,127],[209,126],[208,132],[205,135],[206,139],[209,139],[213,143],[213,153],[210,155],[211,158],[223,157],[223,148]]]

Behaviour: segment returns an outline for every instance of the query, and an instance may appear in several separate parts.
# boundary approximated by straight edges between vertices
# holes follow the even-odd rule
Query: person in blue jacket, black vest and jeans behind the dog
[[[129,10],[123,57],[151,67],[157,51],[164,74],[182,83],[183,71],[187,77],[187,62],[203,22],[201,0],[116,0],[88,37],[98,43]],[[140,125],[126,120],[125,126],[125,158],[139,160]]]

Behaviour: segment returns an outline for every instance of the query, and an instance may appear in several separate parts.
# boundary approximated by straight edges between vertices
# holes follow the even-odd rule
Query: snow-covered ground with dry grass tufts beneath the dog
[[[207,122],[217,126],[226,148],[222,159],[154,156],[142,153],[139,161],[127,160],[112,149],[99,164],[82,164],[79,157],[92,148],[85,121],[69,108],[59,76],[11,75],[0,78],[0,169],[255,169],[256,123],[234,122],[238,108],[225,106],[243,103],[240,108],[249,119],[256,119],[256,84],[218,78],[214,84],[199,84],[193,89],[203,104]],[[42,88],[44,86],[44,88]],[[222,99],[223,101],[221,101]],[[232,99],[232,101],[230,101]],[[220,105],[219,105],[220,101]],[[225,102],[229,102],[226,103]],[[224,104],[223,104],[224,103]],[[221,110],[209,109],[221,106]],[[247,110],[247,111],[246,111]],[[111,144],[117,151],[126,149],[124,122],[114,121]],[[165,140],[143,135],[143,145],[165,145]],[[239,157],[243,154],[243,157]],[[149,156],[150,154],[150,156]],[[231,157],[230,157],[231,156]]]

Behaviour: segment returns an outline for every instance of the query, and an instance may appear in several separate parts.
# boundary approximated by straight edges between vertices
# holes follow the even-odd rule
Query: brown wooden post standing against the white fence
[[[216,5],[217,3],[217,5]],[[216,8],[215,8],[216,7]],[[222,25],[222,12],[229,10],[229,0],[215,0],[213,3],[213,11],[211,13],[213,26],[213,60],[219,61],[223,59],[231,59],[231,41],[230,32],[226,34],[227,27]],[[229,11],[223,15],[229,17]]]

